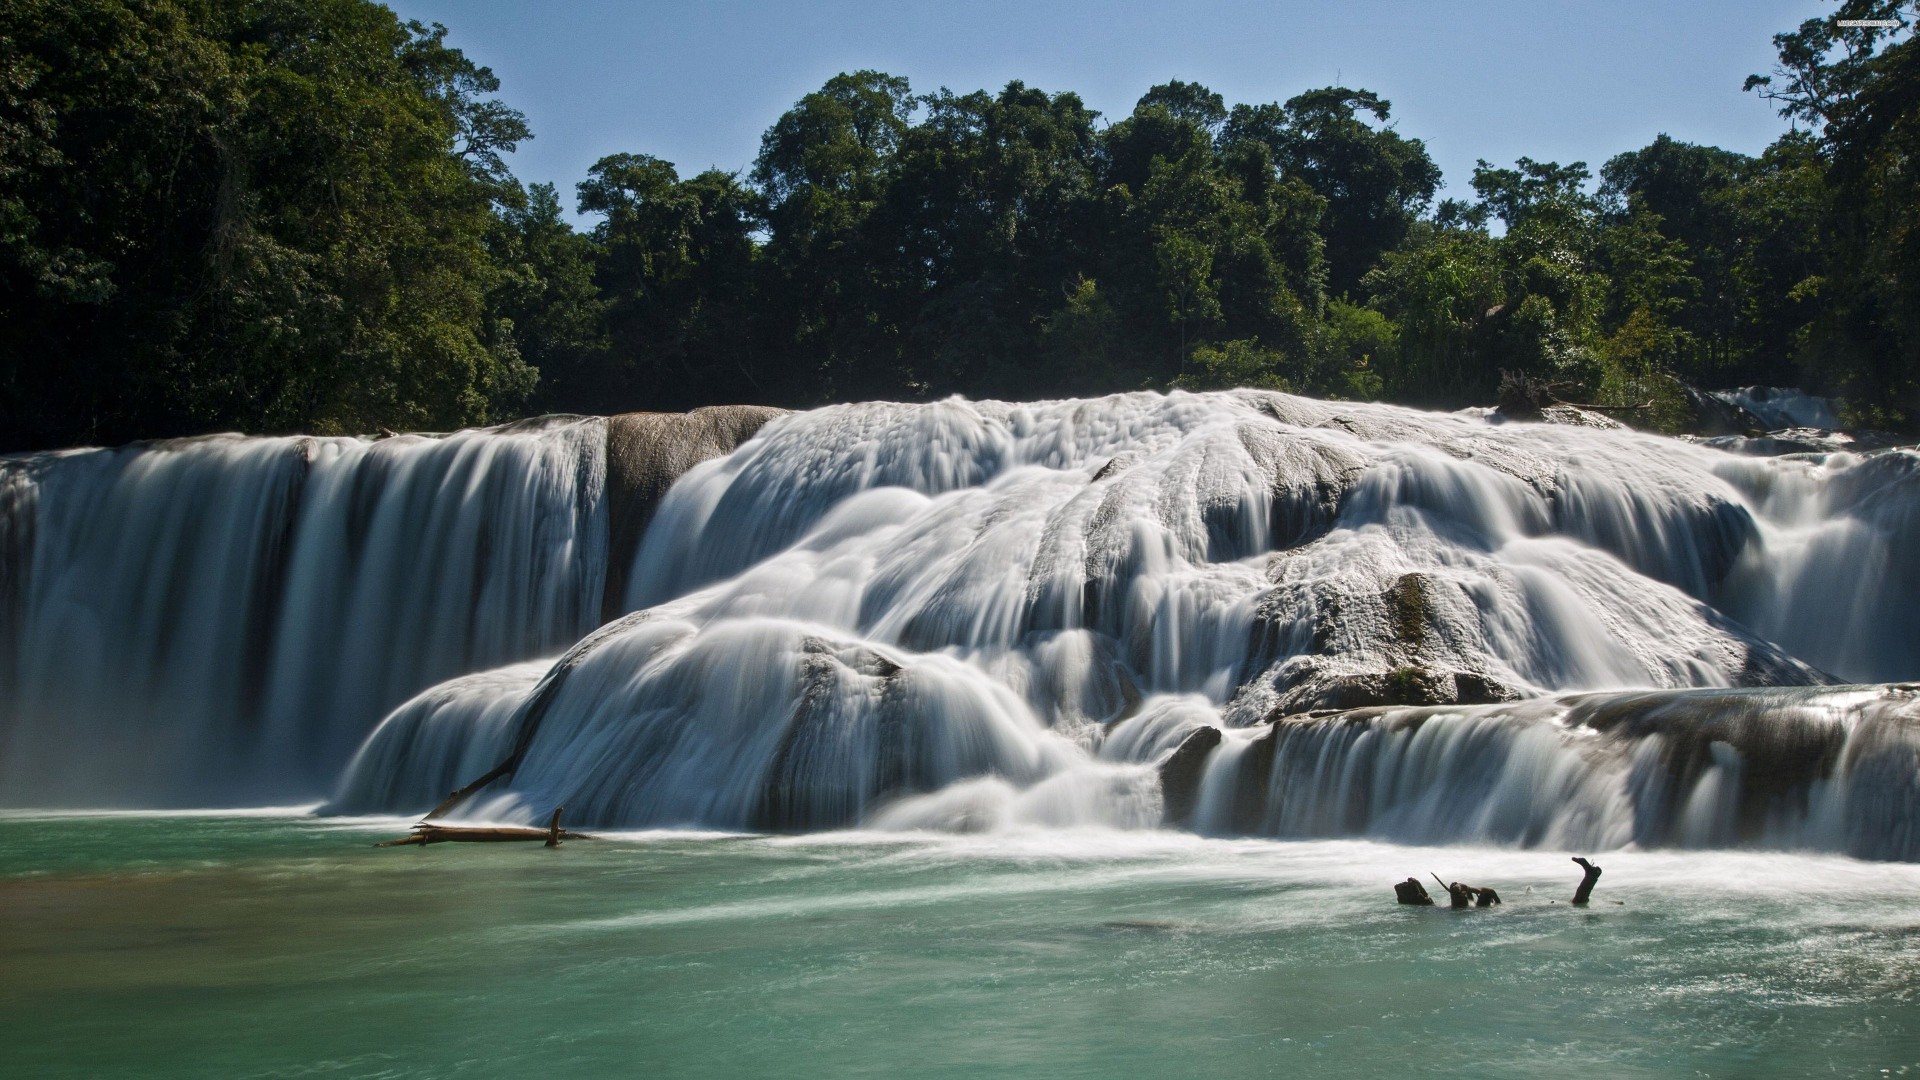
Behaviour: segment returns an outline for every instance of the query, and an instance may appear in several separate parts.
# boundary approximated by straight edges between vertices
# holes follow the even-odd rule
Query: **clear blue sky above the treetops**
[[[693,2],[390,0],[440,21],[501,77],[536,138],[524,181],[574,184],[605,154],[655,154],[693,175],[745,169],[760,133],[837,71],[874,67],[916,92],[1021,79],[1075,90],[1119,119],[1154,83],[1198,81],[1233,102],[1311,86],[1377,90],[1427,140],[1448,192],[1476,158],[1588,161],[1667,133],[1757,154],[1786,123],[1740,90],[1774,61],[1772,35],[1820,0],[1375,2],[1125,0]]]

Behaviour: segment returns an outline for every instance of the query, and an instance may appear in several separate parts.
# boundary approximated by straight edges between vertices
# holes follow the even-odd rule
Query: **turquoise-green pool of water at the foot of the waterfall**
[[[1920,867],[0,817],[12,1076],[1920,1074]],[[1390,882],[1490,884],[1486,911]],[[1428,878],[1430,880],[1430,878]],[[1432,886],[1430,886],[1432,888]]]

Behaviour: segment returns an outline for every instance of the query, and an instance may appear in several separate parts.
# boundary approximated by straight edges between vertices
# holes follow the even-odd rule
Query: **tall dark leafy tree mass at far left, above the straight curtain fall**
[[[528,135],[444,35],[365,0],[0,10],[10,448],[516,411],[486,234]]]

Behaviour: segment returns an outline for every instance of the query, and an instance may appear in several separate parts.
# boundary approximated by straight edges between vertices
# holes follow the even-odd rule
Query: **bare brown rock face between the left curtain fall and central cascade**
[[[707,405],[691,413],[620,413],[607,417],[607,588],[601,623],[616,619],[626,573],[660,498],[687,469],[733,454],[787,409]]]

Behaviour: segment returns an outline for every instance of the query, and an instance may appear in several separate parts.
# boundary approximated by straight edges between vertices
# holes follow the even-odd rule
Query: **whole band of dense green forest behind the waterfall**
[[[1899,27],[1843,27],[1895,19]],[[751,171],[520,184],[499,81],[367,0],[0,6],[0,450],[714,402],[1277,386],[1684,423],[1676,379],[1920,427],[1912,2],[1774,38],[1759,158],[1482,161],[1379,94],[1125,117],[837,75]],[[1763,31],[1757,31],[1763,33]]]

